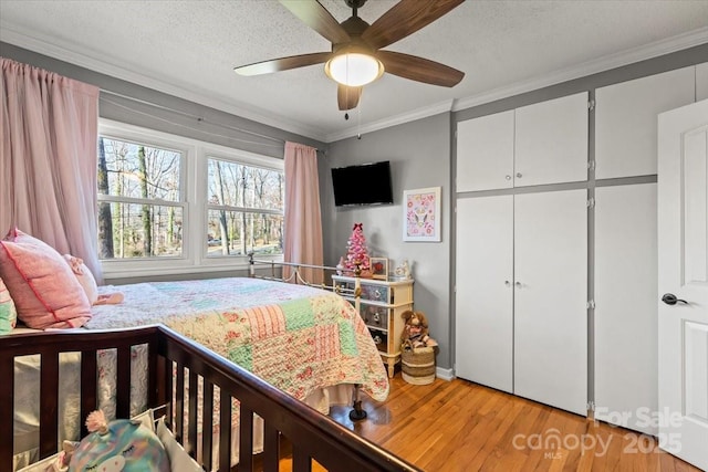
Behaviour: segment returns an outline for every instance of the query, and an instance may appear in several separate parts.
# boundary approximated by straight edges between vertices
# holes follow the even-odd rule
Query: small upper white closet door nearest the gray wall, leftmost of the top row
[[[457,191],[513,187],[513,109],[457,124]]]

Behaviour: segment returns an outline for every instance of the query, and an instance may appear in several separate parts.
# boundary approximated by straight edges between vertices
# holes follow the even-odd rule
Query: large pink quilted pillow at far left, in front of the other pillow
[[[0,277],[31,328],[72,328],[91,319],[91,304],[59,252],[22,231],[0,241]]]

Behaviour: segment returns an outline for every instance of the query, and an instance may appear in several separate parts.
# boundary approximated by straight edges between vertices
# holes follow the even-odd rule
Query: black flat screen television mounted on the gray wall
[[[394,202],[388,160],[333,168],[332,186],[336,207]]]

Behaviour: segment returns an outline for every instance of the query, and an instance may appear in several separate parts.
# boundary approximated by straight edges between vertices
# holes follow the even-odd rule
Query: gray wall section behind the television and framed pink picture
[[[355,222],[364,223],[369,255],[386,256],[392,265],[412,264],[415,308],[424,312],[430,335],[440,344],[439,367],[451,367],[450,332],[450,122],[449,113],[406,123],[330,145],[320,158],[320,198],[324,230],[324,260],[335,265],[346,254]],[[391,161],[394,203],[335,208],[330,169],[353,164]],[[362,182],[365,189],[366,182]],[[403,191],[442,187],[441,242],[403,241]]]

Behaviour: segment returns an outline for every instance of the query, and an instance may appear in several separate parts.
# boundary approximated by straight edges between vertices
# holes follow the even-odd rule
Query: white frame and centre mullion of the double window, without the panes
[[[98,135],[183,153],[180,161],[184,220],[181,256],[102,260],[101,264],[105,277],[242,271],[248,268],[248,256],[207,256],[207,231],[205,229],[207,228],[208,214],[208,159],[229,160],[279,171],[284,170],[283,159],[105,118],[98,120]],[[102,199],[100,198],[98,201]],[[150,203],[154,204],[152,200]],[[259,255],[259,259],[280,262],[282,254]]]

